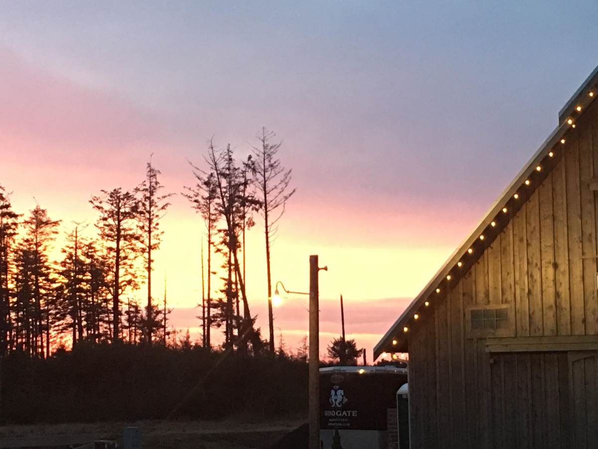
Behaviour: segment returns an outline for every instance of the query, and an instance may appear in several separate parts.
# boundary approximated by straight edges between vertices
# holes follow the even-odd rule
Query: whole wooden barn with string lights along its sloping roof
[[[411,448],[598,448],[598,68],[374,348]]]

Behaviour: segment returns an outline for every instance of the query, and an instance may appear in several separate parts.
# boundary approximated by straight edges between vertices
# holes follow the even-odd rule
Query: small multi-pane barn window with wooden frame
[[[468,309],[469,336],[493,337],[511,336],[511,305],[491,304],[471,307]]]

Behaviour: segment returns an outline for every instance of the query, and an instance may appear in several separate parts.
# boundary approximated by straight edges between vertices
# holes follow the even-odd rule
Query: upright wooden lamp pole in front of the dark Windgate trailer
[[[309,449],[320,449],[318,256],[309,256]]]

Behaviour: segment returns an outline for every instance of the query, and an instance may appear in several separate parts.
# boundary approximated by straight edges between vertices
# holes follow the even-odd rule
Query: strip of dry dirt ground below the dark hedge
[[[120,440],[124,427],[139,427],[144,449],[267,449],[283,435],[304,423],[288,418],[251,422],[226,421],[136,421],[130,423],[42,424],[0,427],[6,436],[92,434],[96,439]]]

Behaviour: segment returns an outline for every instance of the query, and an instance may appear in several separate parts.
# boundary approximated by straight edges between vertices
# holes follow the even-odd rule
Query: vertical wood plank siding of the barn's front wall
[[[513,336],[598,333],[598,102],[556,151],[542,185],[409,331],[412,448],[598,445],[596,354],[491,354],[468,337],[468,308],[492,304],[512,305]]]

